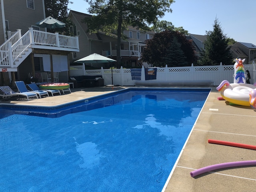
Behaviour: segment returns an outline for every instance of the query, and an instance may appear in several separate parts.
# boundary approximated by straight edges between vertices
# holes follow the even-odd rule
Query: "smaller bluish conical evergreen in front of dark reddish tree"
[[[188,65],[188,62],[186,62],[186,56],[180,47],[181,44],[174,36],[170,47],[166,50],[166,56],[163,58],[164,66],[167,65],[168,67],[178,67]]]

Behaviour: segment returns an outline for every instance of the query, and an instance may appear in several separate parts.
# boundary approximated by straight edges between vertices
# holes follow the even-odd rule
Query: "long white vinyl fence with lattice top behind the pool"
[[[253,84],[256,80],[256,64],[244,65],[244,70],[249,70],[251,75],[250,83]],[[120,86],[218,86],[223,80],[228,80],[230,83],[234,82],[234,65],[219,66],[188,66],[188,67],[157,67],[156,79],[145,80],[144,66],[141,69],[141,80],[132,80],[130,69],[99,69],[99,70],[85,70],[85,66],[70,66],[70,76],[82,75],[102,75],[104,84],[113,84]],[[245,72],[245,74],[247,74]]]

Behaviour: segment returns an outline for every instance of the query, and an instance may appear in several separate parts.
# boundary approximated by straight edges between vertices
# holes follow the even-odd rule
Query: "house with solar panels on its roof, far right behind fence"
[[[231,46],[233,58],[244,59],[244,64],[249,64],[256,59],[256,45],[251,43],[236,42]]]

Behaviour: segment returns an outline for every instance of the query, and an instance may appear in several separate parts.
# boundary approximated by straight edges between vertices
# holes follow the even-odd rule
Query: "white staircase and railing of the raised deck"
[[[29,28],[23,36],[21,30],[0,46],[0,72],[16,72],[33,48],[79,52],[78,37],[64,36]]]

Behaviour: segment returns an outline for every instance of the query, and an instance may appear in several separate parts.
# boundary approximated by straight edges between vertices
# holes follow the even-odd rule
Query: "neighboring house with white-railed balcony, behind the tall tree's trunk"
[[[86,23],[82,22],[85,17],[91,17],[91,15],[73,10],[70,10],[69,15],[70,20],[74,23],[71,31],[74,30],[74,34],[79,35],[80,45],[80,52],[73,54],[73,61],[92,53],[98,53],[116,59],[117,36],[115,34],[111,36],[107,36],[103,32],[91,34],[87,32],[88,27]],[[151,39],[155,33],[145,33],[134,27],[128,27],[128,30],[125,30],[124,34],[127,36],[127,39],[121,40],[121,66],[141,66],[140,56],[146,45],[145,40]]]

